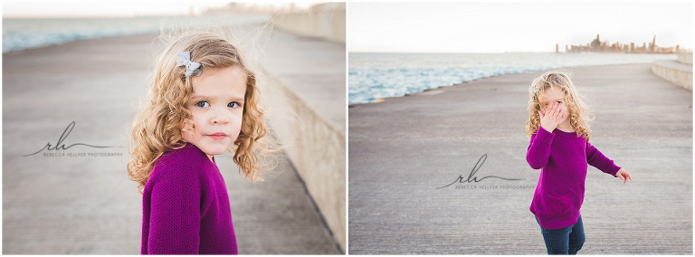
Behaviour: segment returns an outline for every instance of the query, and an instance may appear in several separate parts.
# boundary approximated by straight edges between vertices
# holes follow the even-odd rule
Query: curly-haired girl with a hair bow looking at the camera
[[[133,123],[129,178],[142,200],[142,254],[236,254],[229,197],[214,161],[233,153],[259,178],[266,133],[254,73],[214,33],[190,33],[159,56]]]

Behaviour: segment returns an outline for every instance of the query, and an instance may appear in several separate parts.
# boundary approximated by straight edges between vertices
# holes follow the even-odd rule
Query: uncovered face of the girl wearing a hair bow
[[[242,128],[246,73],[239,66],[209,68],[192,76],[193,97],[188,109],[195,130],[182,131],[184,140],[212,159],[231,147]],[[188,124],[183,129],[193,129]]]

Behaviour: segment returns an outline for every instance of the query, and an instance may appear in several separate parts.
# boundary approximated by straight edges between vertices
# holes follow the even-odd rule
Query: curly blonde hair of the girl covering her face
[[[563,71],[547,71],[531,82],[531,86],[528,88],[530,99],[528,100],[528,121],[526,121],[528,137],[536,134],[538,128],[540,128],[538,110],[541,109],[541,102],[539,98],[543,95],[543,92],[551,87],[564,92],[567,109],[569,110],[569,123],[572,125],[572,129],[576,131],[577,137],[583,136],[586,138],[586,141],[589,141],[591,137],[589,122],[594,118],[585,101],[582,100],[582,96],[577,92],[575,85]]]

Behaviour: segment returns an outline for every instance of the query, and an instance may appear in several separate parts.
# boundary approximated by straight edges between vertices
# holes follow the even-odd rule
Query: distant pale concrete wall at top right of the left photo
[[[345,3],[313,5],[308,11],[279,14],[272,24],[290,33],[345,43],[345,10]]]

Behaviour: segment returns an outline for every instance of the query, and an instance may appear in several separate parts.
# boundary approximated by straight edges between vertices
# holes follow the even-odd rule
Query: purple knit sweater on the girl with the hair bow
[[[229,196],[194,145],[157,159],[142,195],[141,254],[236,254]]]

